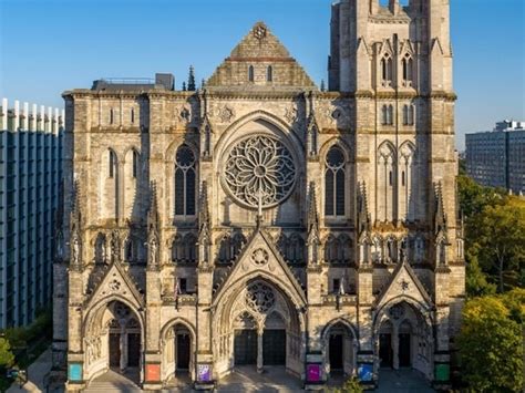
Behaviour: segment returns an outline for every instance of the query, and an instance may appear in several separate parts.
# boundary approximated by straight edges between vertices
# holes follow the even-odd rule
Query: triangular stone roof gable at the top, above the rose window
[[[310,76],[262,22],[255,24],[206,83],[212,90],[240,86],[243,90],[317,90]]]

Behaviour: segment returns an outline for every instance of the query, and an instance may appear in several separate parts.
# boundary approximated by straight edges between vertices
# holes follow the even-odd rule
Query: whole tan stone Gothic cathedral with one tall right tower
[[[321,91],[256,23],[195,92],[63,94],[56,369],[147,390],[451,375],[464,302],[449,0],[332,6]]]

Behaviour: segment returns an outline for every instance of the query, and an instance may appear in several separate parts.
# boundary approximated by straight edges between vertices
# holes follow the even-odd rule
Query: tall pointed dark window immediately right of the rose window
[[[325,214],[344,216],[344,155],[333,146],[326,161],[325,172]]]

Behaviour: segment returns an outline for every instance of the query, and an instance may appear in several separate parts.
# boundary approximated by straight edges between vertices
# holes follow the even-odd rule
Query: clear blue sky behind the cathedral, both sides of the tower
[[[364,1],[364,0],[360,0]],[[525,0],[450,0],[456,145],[525,120]],[[63,107],[101,77],[207,79],[262,20],[320,84],[331,0],[0,0],[0,96]]]

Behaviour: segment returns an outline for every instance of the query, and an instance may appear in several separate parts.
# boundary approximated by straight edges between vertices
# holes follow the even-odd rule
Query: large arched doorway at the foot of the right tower
[[[408,301],[394,303],[378,314],[377,354],[380,368],[411,368],[432,378],[432,324]]]

